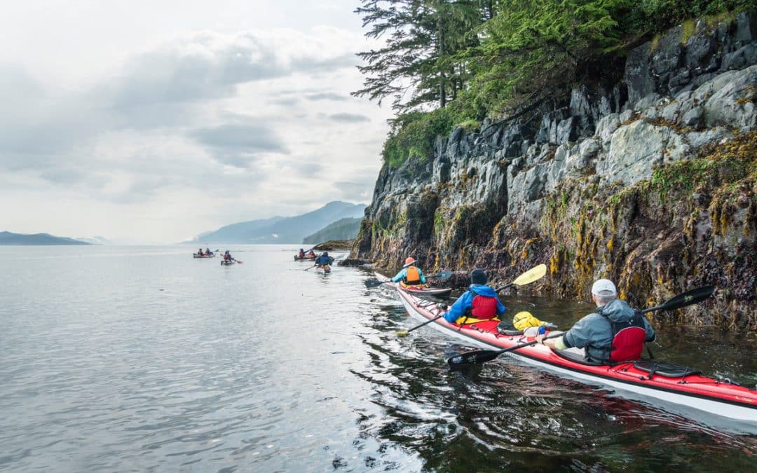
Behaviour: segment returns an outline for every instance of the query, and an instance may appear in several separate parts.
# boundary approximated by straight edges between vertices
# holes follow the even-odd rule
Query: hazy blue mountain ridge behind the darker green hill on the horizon
[[[362,219],[365,210],[365,204],[329,202],[318,210],[298,216],[274,216],[223,226],[215,232],[198,235],[192,239],[192,243],[300,244],[308,235],[313,235],[337,220]]]

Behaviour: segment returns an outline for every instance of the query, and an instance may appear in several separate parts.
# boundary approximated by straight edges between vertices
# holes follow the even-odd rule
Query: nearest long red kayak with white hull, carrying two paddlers
[[[397,290],[411,316],[428,321],[440,315],[435,303]],[[505,335],[497,330],[497,320],[467,325],[455,325],[439,318],[429,325],[447,335],[488,350],[501,350],[533,341],[525,335]],[[522,347],[506,354],[556,372],[568,378],[609,385],[622,390],[622,394],[635,394],[635,399],[663,400],[687,406],[730,420],[728,427],[741,431],[757,431],[757,390],[740,386],[727,378],[714,379],[702,375],[697,369],[666,363],[658,359],[642,359],[612,366],[587,364],[583,356],[570,350],[551,350],[541,344]],[[618,393],[620,394],[620,393]]]

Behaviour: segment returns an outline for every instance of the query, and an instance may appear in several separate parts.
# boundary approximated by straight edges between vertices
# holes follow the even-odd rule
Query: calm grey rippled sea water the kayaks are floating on
[[[410,319],[371,274],[294,246],[0,247],[0,470],[755,471],[704,427]],[[511,295],[569,325],[585,303]],[[546,315],[550,314],[550,315]],[[659,327],[656,356],[757,383],[754,338]]]

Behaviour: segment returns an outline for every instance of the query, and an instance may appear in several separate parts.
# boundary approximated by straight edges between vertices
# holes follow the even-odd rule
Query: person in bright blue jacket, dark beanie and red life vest
[[[479,320],[497,319],[505,313],[506,307],[497,297],[497,292],[486,285],[488,281],[483,269],[471,271],[471,285],[450,310],[444,314],[444,320],[463,325]]]

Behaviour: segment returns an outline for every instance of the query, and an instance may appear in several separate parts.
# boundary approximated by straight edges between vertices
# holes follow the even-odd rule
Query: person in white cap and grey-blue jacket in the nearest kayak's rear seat
[[[617,295],[612,281],[598,279],[591,286],[597,312],[575,322],[562,337],[545,340],[544,335],[537,335],[537,341],[556,350],[583,348],[584,357],[595,363],[639,359],[644,342],[655,341],[654,328]]]

